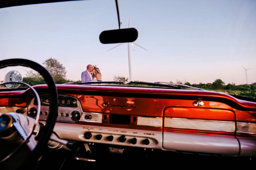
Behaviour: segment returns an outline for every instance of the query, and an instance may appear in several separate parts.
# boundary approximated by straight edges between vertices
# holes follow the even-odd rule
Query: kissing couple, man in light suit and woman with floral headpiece
[[[87,65],[86,70],[81,74],[81,83],[92,82],[92,81],[102,81],[101,72],[97,65]]]

